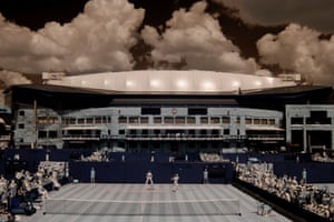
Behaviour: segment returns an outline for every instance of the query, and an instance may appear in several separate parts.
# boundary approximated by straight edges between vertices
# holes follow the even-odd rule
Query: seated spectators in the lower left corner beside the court
[[[41,163],[36,173],[17,171],[0,176],[0,221],[14,221],[16,214],[32,214],[40,208],[48,191],[58,190],[66,176],[66,164]]]

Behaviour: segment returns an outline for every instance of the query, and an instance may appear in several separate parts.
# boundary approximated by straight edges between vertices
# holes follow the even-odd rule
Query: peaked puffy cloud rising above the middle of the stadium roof
[[[239,49],[223,34],[218,21],[205,12],[206,7],[200,1],[189,11],[175,11],[161,34],[153,27],[144,28],[143,39],[154,48],[155,68],[166,62],[171,65],[184,62],[184,69],[255,73],[255,60],[240,57]]]

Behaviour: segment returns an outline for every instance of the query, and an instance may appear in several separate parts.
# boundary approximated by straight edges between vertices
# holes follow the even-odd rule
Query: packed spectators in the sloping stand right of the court
[[[301,181],[296,176],[277,176],[272,164],[267,163],[238,164],[236,172],[239,180],[334,221],[334,193],[308,184],[306,176],[302,176]]]

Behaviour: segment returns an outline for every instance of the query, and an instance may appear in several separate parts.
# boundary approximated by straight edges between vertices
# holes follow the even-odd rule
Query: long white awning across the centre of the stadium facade
[[[222,130],[218,125],[127,125],[127,130]]]

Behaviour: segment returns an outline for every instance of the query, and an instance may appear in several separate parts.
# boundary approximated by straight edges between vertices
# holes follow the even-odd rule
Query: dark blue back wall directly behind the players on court
[[[80,182],[89,182],[90,168],[96,170],[96,180],[108,183],[144,183],[148,170],[154,174],[155,183],[170,183],[178,173],[180,183],[202,183],[203,171],[209,169],[209,182],[229,183],[232,164],[207,164],[198,162],[70,162],[70,175]]]

